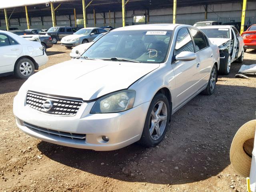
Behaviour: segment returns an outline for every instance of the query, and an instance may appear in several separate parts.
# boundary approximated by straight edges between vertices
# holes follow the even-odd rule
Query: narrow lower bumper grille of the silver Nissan
[[[40,133],[45,133],[45,134],[48,134],[51,136],[65,137],[65,138],[70,138],[72,140],[74,140],[74,139],[85,140],[85,138],[86,138],[86,134],[78,134],[78,133],[70,133],[70,132],[46,129],[46,128],[42,128],[42,127],[38,127],[38,126],[35,126],[32,124],[29,124],[27,122],[23,122],[23,124],[30,130],[40,132]]]

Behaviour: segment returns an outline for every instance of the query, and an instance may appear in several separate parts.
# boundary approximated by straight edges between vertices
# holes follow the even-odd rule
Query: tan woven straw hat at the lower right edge
[[[251,154],[248,154],[245,143],[252,141],[255,136],[256,120],[251,120],[242,125],[236,132],[230,147],[230,162],[234,170],[243,177],[249,177],[251,167]],[[252,151],[253,144],[250,146]]]

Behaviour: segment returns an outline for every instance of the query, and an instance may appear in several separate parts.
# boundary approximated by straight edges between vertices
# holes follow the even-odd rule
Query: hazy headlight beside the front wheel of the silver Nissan
[[[128,110],[133,107],[135,95],[134,90],[122,90],[108,94],[94,103],[90,113],[115,113]]]

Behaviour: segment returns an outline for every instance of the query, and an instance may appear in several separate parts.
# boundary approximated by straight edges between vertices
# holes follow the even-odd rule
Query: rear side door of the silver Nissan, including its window
[[[199,82],[198,89],[203,88],[209,81],[213,64],[213,52],[209,46],[208,38],[202,32],[194,28],[189,29],[196,48],[196,56],[199,58]]]

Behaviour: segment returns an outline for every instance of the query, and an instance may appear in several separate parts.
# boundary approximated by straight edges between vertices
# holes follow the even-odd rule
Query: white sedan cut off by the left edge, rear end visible
[[[48,56],[37,40],[26,40],[0,30],[0,76],[14,74],[18,78],[27,79],[47,61]]]

